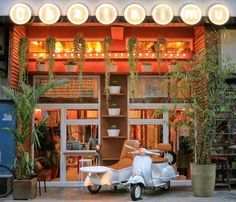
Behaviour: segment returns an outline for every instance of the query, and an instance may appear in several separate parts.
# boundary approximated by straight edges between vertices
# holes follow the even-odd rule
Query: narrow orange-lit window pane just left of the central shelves
[[[66,118],[73,119],[98,119],[97,109],[68,109],[66,111]]]

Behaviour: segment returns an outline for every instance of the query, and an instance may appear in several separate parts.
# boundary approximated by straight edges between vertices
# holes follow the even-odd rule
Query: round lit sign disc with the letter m
[[[180,16],[186,24],[195,25],[201,20],[202,11],[194,4],[187,4],[181,9]]]

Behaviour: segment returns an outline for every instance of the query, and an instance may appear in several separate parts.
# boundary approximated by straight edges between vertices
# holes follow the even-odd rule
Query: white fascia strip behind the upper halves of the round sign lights
[[[35,16],[38,15],[40,6],[45,3],[57,4],[63,15],[66,15],[66,9],[72,3],[81,2],[87,5],[90,11],[90,15],[94,15],[96,7],[101,3],[112,3],[116,6],[118,14],[123,16],[125,6],[132,2],[138,2],[145,8],[147,15],[151,15],[151,10],[156,4],[166,3],[169,4],[176,16],[179,16],[180,9],[186,3],[195,3],[201,9],[204,16],[206,16],[207,10],[210,5],[214,3],[222,3],[229,8],[231,16],[236,16],[236,0],[0,0],[0,16],[9,15],[10,8],[16,3],[27,3],[33,10]]]

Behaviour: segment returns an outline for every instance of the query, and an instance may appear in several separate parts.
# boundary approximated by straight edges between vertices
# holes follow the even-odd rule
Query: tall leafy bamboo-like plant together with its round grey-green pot
[[[212,196],[214,191],[216,165],[211,163],[210,152],[222,123],[217,117],[230,102],[223,99],[222,93],[227,88],[225,79],[231,65],[220,67],[217,58],[217,49],[206,49],[193,57],[187,71],[181,70],[186,65],[181,63],[177,64],[180,69],[169,75],[170,91],[175,91],[176,97],[173,102],[186,103],[184,120],[176,127],[189,128],[194,157],[190,165],[192,189],[200,197]]]

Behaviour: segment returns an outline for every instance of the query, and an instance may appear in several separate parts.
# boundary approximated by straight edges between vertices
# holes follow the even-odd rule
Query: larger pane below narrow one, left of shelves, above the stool
[[[67,150],[96,150],[97,125],[67,125],[66,135]]]

